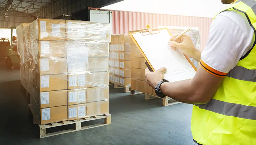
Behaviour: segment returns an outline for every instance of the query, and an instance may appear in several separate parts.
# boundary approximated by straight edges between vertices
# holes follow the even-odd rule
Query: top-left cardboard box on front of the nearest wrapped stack
[[[66,21],[60,19],[38,19],[39,39],[43,41],[65,41]],[[35,31],[36,29],[34,29]],[[31,30],[32,31],[32,30]]]

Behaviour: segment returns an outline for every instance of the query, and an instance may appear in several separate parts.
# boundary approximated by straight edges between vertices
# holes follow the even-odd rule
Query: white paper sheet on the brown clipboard
[[[192,79],[195,76],[196,71],[186,57],[178,49],[171,49],[168,44],[171,36],[167,29],[160,30],[160,33],[149,35],[134,33],[132,36],[155,70],[161,67],[167,69],[164,79],[175,82]]]

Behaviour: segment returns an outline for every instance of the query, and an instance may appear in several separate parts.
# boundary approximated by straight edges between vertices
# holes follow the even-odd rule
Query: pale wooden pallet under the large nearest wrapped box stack
[[[80,130],[85,130],[85,129],[90,129],[90,128],[94,128],[94,127],[105,126],[105,125],[111,124],[111,115],[104,114],[104,115],[86,117],[83,119],[76,119],[76,120],[71,120],[71,121],[61,121],[61,122],[40,125],[39,121],[34,117],[34,113],[33,113],[34,111],[32,109],[32,106],[29,104],[28,107],[30,108],[30,110],[33,114],[33,124],[37,124],[39,126],[40,138],[45,138],[45,137],[50,137],[50,136],[60,135],[60,134],[66,134],[66,133],[71,133],[71,132],[76,132],[76,131],[80,131]],[[104,123],[98,123],[98,124],[89,125],[89,126],[81,126],[82,122],[103,119],[103,118],[104,118]],[[53,133],[46,133],[47,128],[66,126],[69,124],[73,124],[74,129],[67,129],[67,130],[61,130],[61,131],[57,131],[57,132],[53,132]]]

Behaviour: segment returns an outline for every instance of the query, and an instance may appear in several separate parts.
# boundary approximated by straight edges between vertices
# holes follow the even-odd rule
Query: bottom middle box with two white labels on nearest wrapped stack
[[[87,104],[69,105],[68,120],[81,119],[86,117]]]

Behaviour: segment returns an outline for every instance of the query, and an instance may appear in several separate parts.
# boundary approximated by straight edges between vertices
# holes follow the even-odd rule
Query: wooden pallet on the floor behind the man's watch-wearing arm
[[[147,93],[142,93],[140,91],[131,89],[131,95],[139,95],[139,94],[145,94],[145,100],[160,98],[158,96],[154,96],[154,95],[147,94]],[[161,98],[161,99],[163,99],[163,106],[170,106],[170,105],[181,103],[181,102],[173,100],[172,98],[169,98],[169,97],[165,97],[165,98]]]

